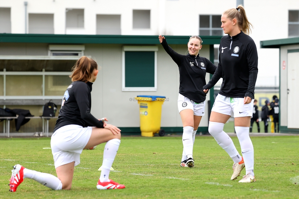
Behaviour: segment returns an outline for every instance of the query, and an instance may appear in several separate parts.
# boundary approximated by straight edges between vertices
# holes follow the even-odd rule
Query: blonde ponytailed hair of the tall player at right
[[[237,19],[237,24],[240,30],[246,35],[249,35],[251,32],[250,26],[252,27],[252,24],[248,21],[245,9],[242,5],[239,5],[237,8],[228,9],[224,11],[223,14],[226,14],[227,18],[230,20]]]

